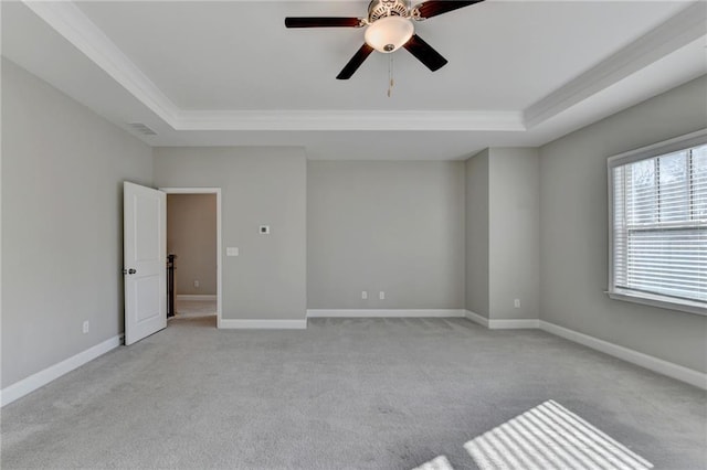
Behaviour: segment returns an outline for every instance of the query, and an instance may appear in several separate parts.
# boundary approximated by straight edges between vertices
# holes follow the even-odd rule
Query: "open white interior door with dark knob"
[[[125,182],[123,200],[127,345],[167,327],[167,197]]]

